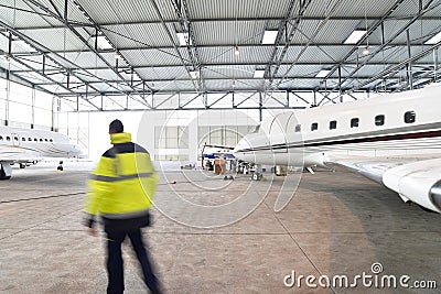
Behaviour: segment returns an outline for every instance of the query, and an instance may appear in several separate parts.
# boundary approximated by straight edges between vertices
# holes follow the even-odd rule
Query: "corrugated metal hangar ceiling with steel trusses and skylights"
[[[438,80],[440,32],[441,0],[2,0],[0,74],[95,110],[112,97],[326,98]]]

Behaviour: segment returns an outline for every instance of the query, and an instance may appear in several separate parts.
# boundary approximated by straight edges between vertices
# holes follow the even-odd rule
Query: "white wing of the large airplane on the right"
[[[440,157],[329,156],[325,164],[356,171],[397,192],[405,202],[441,213]]]

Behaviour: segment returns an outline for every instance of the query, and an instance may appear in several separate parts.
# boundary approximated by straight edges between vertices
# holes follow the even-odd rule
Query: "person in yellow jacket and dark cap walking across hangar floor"
[[[150,225],[149,208],[158,176],[149,153],[131,142],[120,120],[109,126],[112,148],[99,160],[88,182],[85,204],[86,225],[97,236],[96,217],[100,216],[107,233],[107,293],[123,293],[121,243],[128,236],[140,262],[146,285],[162,293],[142,241],[141,228]]]

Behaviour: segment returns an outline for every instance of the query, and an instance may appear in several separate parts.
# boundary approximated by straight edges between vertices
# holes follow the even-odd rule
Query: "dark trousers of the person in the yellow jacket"
[[[123,261],[121,252],[121,243],[129,236],[135,253],[141,264],[144,283],[152,293],[161,293],[158,279],[153,273],[149,255],[146,251],[140,229],[132,231],[112,231],[106,229],[107,233],[107,273],[109,284],[107,286],[108,294],[123,293]]]

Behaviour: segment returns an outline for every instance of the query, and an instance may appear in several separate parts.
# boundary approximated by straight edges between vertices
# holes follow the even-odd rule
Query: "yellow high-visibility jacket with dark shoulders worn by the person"
[[[99,160],[88,181],[85,211],[92,227],[95,216],[129,219],[142,216],[152,205],[158,175],[150,154],[131,142],[130,133],[112,133],[114,146]]]

